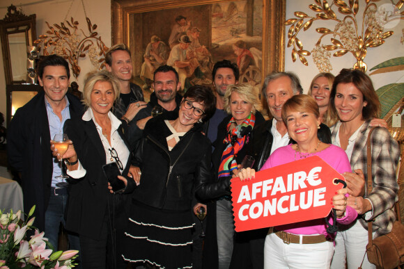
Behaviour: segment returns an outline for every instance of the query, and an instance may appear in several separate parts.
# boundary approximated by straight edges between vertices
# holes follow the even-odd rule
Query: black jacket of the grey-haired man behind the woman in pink
[[[252,132],[252,142],[247,147],[247,152],[249,155],[253,156],[256,161],[253,168],[256,171],[261,170],[267,158],[270,157],[272,142],[274,136],[271,133],[272,120],[267,120],[263,124],[258,125],[254,128]],[[318,129],[317,137],[322,142],[331,144],[331,131],[325,124],[320,124],[320,129]],[[289,143],[295,144],[293,139],[290,139]]]

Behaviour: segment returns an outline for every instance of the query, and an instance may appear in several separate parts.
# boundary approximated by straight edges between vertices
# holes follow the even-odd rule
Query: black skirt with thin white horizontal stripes
[[[123,259],[157,268],[192,268],[192,210],[168,211],[132,203]]]

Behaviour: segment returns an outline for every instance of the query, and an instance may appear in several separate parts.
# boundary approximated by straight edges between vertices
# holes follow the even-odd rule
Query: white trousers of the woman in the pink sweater
[[[334,244],[326,241],[318,244],[285,244],[276,234],[265,238],[264,268],[329,268]]]

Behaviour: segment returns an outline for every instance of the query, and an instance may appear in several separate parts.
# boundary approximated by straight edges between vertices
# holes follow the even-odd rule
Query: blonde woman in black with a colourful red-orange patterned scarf
[[[204,268],[227,269],[230,265],[235,236],[230,179],[232,171],[237,169],[246,154],[245,145],[251,140],[254,126],[265,121],[258,112],[259,108],[258,93],[251,85],[228,86],[224,95],[224,110],[230,115],[219,124],[217,140],[213,142],[212,165],[216,182],[204,186],[204,195],[199,197],[202,200],[215,199],[214,203],[208,204]]]

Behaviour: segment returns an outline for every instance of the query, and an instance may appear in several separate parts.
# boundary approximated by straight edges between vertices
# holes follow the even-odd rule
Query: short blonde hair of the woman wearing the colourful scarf
[[[253,86],[246,83],[228,85],[226,92],[224,93],[224,110],[228,114],[231,114],[230,99],[233,92],[237,92],[244,101],[247,101],[247,103],[252,105],[252,113],[255,114],[256,111],[261,109],[261,101],[258,99],[258,94],[254,90]]]

